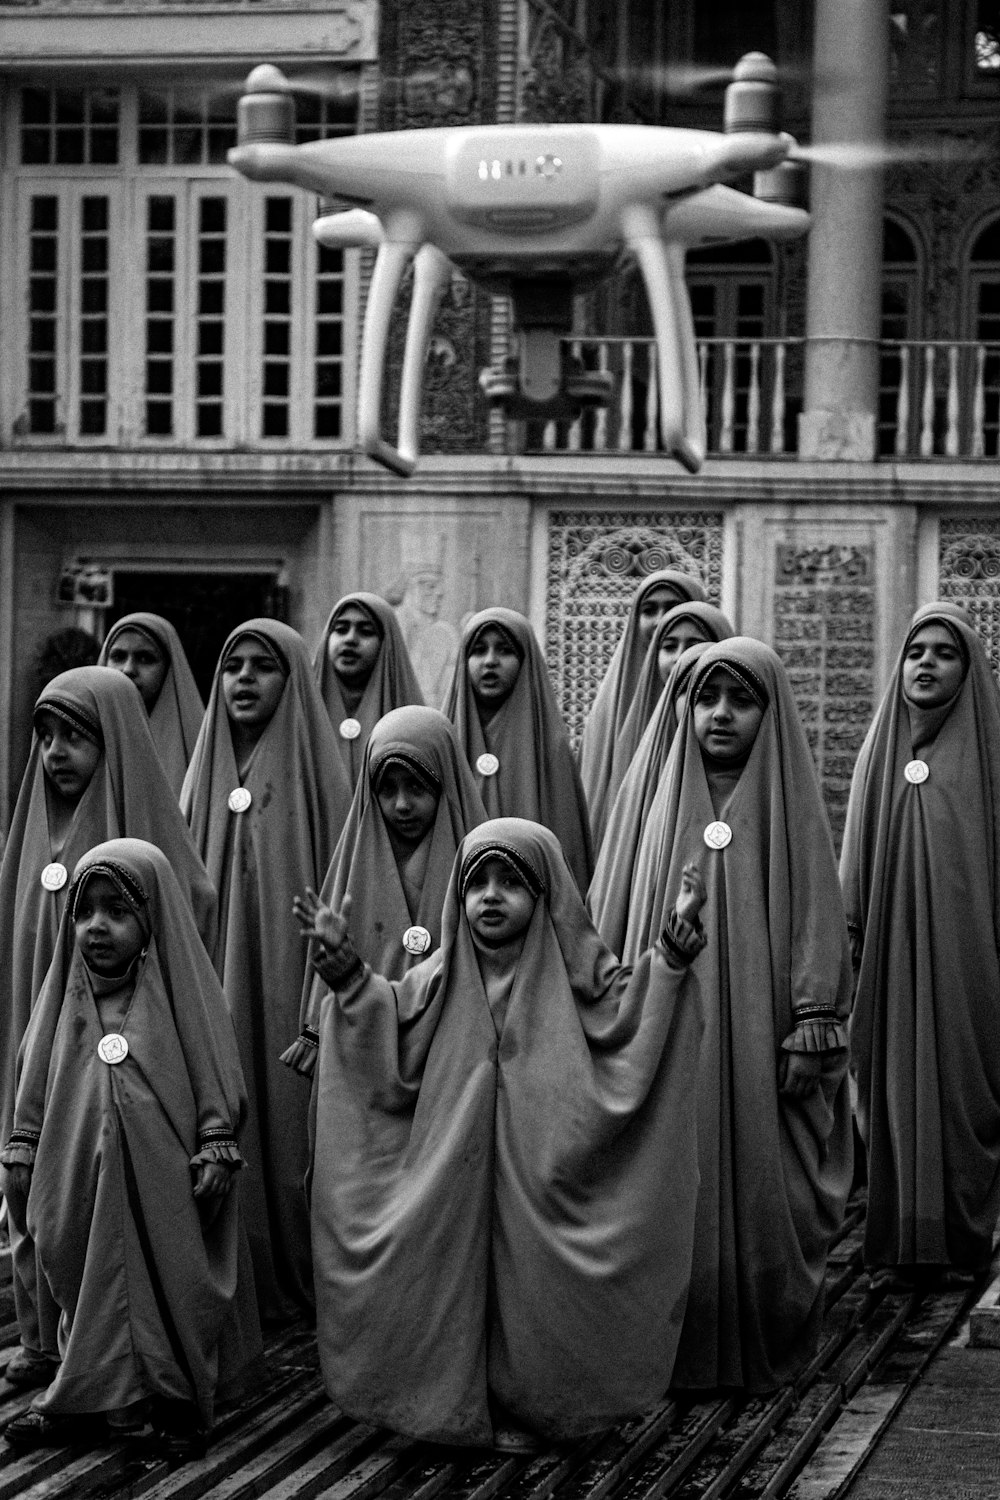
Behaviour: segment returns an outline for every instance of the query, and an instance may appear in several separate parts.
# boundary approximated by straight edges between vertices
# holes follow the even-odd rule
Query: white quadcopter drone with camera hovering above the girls
[[[238,105],[229,162],[255,182],[283,182],[352,204],[316,220],[321,244],[378,250],[361,339],[358,441],[411,474],[420,453],[423,370],[454,267],[513,304],[517,352],[484,370],[487,398],[514,417],[565,417],[606,405],[610,376],[564,350],[573,297],[633,255],[654,332],[660,438],[691,472],[705,459],[705,417],[688,248],[804,234],[810,216],[783,182],[792,136],[777,129],[777,69],[744,57],[726,92],[726,132],[642,124],[487,124],[396,130],[292,146],[291,86],[255,68]],[[723,186],[756,172],[754,195]],[[381,432],[385,350],[403,272],[414,260],[397,447]]]

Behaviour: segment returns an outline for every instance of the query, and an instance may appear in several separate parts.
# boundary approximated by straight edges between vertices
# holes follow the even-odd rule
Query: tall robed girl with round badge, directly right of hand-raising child
[[[850,1191],[852,970],[805,732],[781,662],[745,636],[696,663],[639,849],[627,960],[660,930],[699,842],[700,1188],[673,1382],[766,1392],[816,1350]]]

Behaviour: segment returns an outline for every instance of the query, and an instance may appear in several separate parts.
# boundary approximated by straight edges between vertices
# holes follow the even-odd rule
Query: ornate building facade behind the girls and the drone
[[[702,474],[657,452],[628,273],[576,309],[607,411],[490,414],[478,374],[508,312],[456,272],[421,465],[360,458],[370,256],[316,246],[315,198],[228,168],[250,68],[286,70],[300,141],[717,128],[724,69],[754,48],[783,70],[786,126],[828,154],[808,244],[690,256]],[[373,588],[435,700],[462,620],[511,604],[576,732],[636,582],[696,568],[786,658],[835,826],[918,603],[966,600],[1000,664],[1000,4],[0,0],[0,58],[4,819],[45,644],[136,608],[174,620],[204,684],[240,618],[312,642],[339,594]]]

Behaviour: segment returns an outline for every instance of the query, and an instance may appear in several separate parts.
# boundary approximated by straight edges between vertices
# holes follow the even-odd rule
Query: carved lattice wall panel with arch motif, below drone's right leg
[[[639,584],[657,568],[700,578],[718,603],[723,585],[721,512],[573,512],[549,516],[546,648],[570,738],[607,670]]]

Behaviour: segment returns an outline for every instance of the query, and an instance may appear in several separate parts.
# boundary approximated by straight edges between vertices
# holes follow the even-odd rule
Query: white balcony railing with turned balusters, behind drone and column
[[[607,408],[576,422],[511,426],[523,452],[655,453],[657,348],[652,339],[571,339],[570,352],[613,380]],[[700,339],[708,452],[795,456],[804,339]],[[1000,344],[909,340],[880,345],[879,456],[996,459],[1000,452]]]

